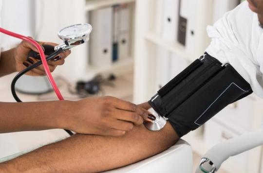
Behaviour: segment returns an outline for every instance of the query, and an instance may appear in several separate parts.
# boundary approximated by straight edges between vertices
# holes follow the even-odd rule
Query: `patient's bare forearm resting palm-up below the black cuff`
[[[158,154],[177,140],[169,123],[158,132],[136,126],[122,137],[74,135],[0,164],[0,172],[102,172]]]

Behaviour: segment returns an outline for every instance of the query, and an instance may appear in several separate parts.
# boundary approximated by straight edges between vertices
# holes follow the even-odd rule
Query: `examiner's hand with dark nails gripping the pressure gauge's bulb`
[[[51,45],[51,46],[57,46],[56,43],[49,43],[49,42],[38,42],[40,45]],[[33,50],[35,52],[38,52],[38,49],[32,45],[31,43],[28,43],[26,41],[22,41],[18,47],[14,48],[14,60],[15,60],[15,71],[21,71],[32,64],[35,64],[39,60],[36,60],[35,58],[29,57],[27,59],[28,53]],[[65,62],[65,58],[70,54],[70,51],[65,51],[60,54],[58,54],[53,60],[48,61],[49,69],[51,72],[53,72],[56,69],[56,66],[63,65]],[[27,75],[31,76],[42,76],[45,75],[45,70],[43,65],[38,66],[35,69],[30,70],[26,73]]]

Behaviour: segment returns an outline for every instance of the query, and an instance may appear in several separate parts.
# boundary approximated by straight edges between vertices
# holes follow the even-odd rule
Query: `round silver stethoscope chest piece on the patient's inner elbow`
[[[164,128],[168,118],[160,116],[153,108],[150,108],[148,111],[156,118],[156,120],[153,122],[144,121],[144,126],[150,131],[159,131]]]

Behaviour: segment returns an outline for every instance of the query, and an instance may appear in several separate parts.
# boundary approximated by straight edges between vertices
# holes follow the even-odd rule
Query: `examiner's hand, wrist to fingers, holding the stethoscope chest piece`
[[[67,106],[63,128],[81,134],[122,136],[140,125],[151,121],[149,112],[136,104],[105,96],[71,102]],[[63,115],[62,115],[63,116]]]

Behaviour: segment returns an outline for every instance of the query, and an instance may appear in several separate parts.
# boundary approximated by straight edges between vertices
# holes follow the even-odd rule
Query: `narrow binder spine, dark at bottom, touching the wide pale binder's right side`
[[[113,62],[119,58],[120,5],[113,6]]]

